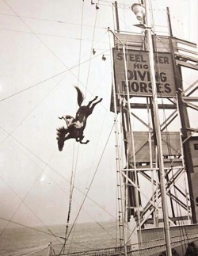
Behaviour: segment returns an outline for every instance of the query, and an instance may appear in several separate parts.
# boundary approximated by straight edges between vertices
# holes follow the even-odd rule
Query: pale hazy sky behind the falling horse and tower
[[[112,34],[107,29],[116,25],[112,1],[93,2],[100,9],[88,0],[0,1],[1,227],[7,225],[3,219],[65,223],[72,171],[70,222],[88,190],[78,222],[116,220]],[[118,1],[120,30],[140,32],[133,26],[133,3]],[[153,0],[152,6],[155,24],[167,26],[169,6],[173,36],[197,42],[196,0]],[[195,71],[185,72],[186,85],[195,80]],[[75,115],[74,86],[85,94],[85,104],[96,95],[103,100],[88,119],[89,143],[70,139],[59,152],[55,132],[64,122],[58,117]]]

